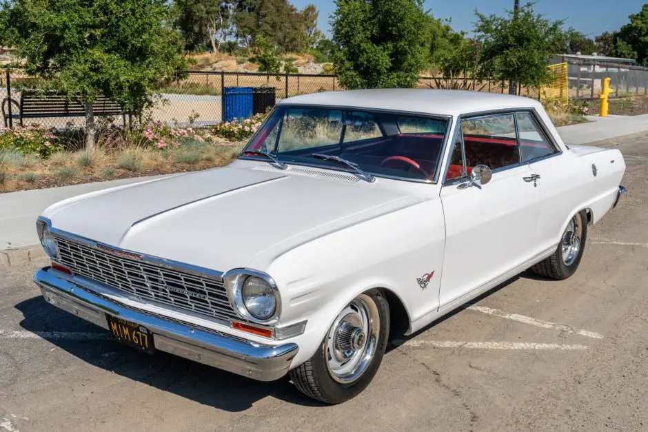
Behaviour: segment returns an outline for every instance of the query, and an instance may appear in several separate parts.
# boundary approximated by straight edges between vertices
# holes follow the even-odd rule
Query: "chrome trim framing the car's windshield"
[[[278,110],[280,107],[282,109],[285,108],[287,110],[290,109],[290,108],[297,108],[297,109],[301,109],[301,110],[307,110],[308,108],[341,110],[341,111],[344,111],[344,110],[346,110],[346,111],[357,110],[357,111],[365,111],[365,112],[372,112],[372,113],[379,113],[379,114],[407,115],[407,116],[422,117],[424,119],[444,120],[444,121],[446,121],[445,132],[443,134],[443,141],[441,142],[441,149],[439,151],[438,159],[437,159],[437,162],[436,162],[437,166],[436,166],[435,173],[434,173],[434,180],[430,180],[430,179],[425,180],[425,179],[418,179],[418,178],[403,178],[403,177],[399,177],[399,176],[391,176],[389,174],[378,174],[378,173],[374,173],[374,172],[371,172],[371,171],[367,171],[367,172],[369,172],[369,174],[372,174],[372,176],[375,176],[377,178],[388,178],[389,180],[408,181],[408,182],[411,182],[411,183],[425,183],[425,184],[430,184],[430,185],[436,185],[439,182],[439,178],[441,178],[441,176],[440,176],[441,173],[439,172],[438,166],[441,165],[441,163],[443,163],[443,157],[445,155],[445,150],[446,150],[446,147],[447,147],[447,143],[449,142],[448,141],[449,133],[452,130],[452,116],[443,115],[443,114],[428,114],[428,113],[425,113],[425,112],[418,112],[418,111],[410,112],[410,111],[402,111],[402,110],[383,110],[383,109],[379,109],[379,108],[354,107],[354,106],[350,106],[350,105],[312,105],[312,104],[303,104],[303,105],[301,105],[301,104],[298,104],[298,103],[281,103],[281,101],[280,101],[279,103],[277,103],[274,106],[274,108],[272,109],[270,114],[267,115],[267,117],[265,118],[265,121],[263,121],[263,123],[261,123],[261,126],[259,126],[259,129],[256,130],[254,135],[252,135],[250,137],[250,139],[247,141],[247,143],[245,143],[245,147],[243,147],[243,150],[241,150],[241,152],[239,153],[239,156],[236,156],[237,159],[241,159],[243,161],[261,161],[262,160],[261,158],[258,158],[258,157],[255,157],[255,156],[245,156],[245,149],[247,148],[248,145],[250,145],[250,143],[252,141],[254,141],[256,136],[258,134],[260,134],[261,130],[263,129],[263,126],[265,126],[265,123],[267,123],[268,119],[270,119],[272,114],[274,114],[274,112],[276,110]],[[283,121],[283,118],[282,118],[282,121]],[[277,136],[279,136],[279,134]],[[289,164],[289,165],[300,165],[300,166],[303,166],[303,167],[316,167],[316,168],[323,168],[323,169],[332,169],[333,171],[350,172],[350,171],[348,171],[346,169],[343,169],[341,167],[336,167],[336,166],[327,166],[327,165],[321,165],[321,164],[315,164],[315,163],[312,164],[312,163],[302,163],[302,162],[283,161],[283,160],[282,160],[282,162],[286,163],[286,164]]]

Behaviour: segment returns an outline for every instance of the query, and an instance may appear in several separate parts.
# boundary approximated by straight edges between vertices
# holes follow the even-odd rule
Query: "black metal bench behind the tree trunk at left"
[[[2,117],[5,127],[8,127],[9,104],[11,104],[12,119],[18,119],[21,126],[23,119],[85,116],[85,107],[79,100],[69,100],[63,94],[54,92],[22,90],[20,103],[9,98],[2,101]],[[97,99],[92,103],[92,110],[95,116],[122,116],[124,124],[126,124],[124,110],[117,102],[106,96],[97,96]]]

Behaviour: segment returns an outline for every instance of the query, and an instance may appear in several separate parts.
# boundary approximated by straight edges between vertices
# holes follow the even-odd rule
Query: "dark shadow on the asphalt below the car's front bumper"
[[[42,296],[17,304],[23,329],[41,333],[84,362],[156,389],[224,411],[239,412],[267,396],[302,406],[323,406],[300,393],[285,377],[261,382],[157,351],[141,353],[110,339],[108,331],[45,302]],[[97,339],[65,339],[61,333],[97,333]],[[103,338],[105,336],[105,339]]]

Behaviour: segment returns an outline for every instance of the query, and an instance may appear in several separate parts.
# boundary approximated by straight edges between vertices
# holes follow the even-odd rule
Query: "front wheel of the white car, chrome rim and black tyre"
[[[376,375],[388,334],[387,300],[381,291],[367,291],[338,313],[320,348],[290,378],[310,398],[327,404],[350,400]]]

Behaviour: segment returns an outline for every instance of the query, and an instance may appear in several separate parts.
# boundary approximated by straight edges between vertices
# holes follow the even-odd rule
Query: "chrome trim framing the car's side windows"
[[[552,158],[554,156],[558,156],[560,154],[563,154],[563,151],[560,150],[560,146],[557,145],[557,143],[554,141],[553,136],[551,136],[551,134],[547,133],[544,122],[541,119],[538,119],[538,112],[533,107],[523,107],[523,108],[515,108],[515,109],[512,109],[512,110],[509,110],[509,109],[507,109],[507,110],[493,110],[493,111],[482,111],[482,112],[474,112],[474,113],[469,113],[469,114],[461,114],[460,116],[457,117],[456,122],[455,122],[456,127],[455,127],[455,130],[454,130],[452,143],[455,142],[457,134],[460,133],[460,131],[461,131],[461,122],[463,120],[465,120],[465,119],[480,119],[482,117],[513,114],[514,121],[516,122],[515,123],[516,124],[516,140],[518,141],[518,145],[520,145],[519,144],[519,138],[518,138],[517,118],[516,118],[516,115],[515,115],[518,112],[529,112],[529,113],[531,113],[531,116],[533,117],[534,121],[540,127],[540,130],[541,130],[540,132],[543,132],[545,138],[547,138],[547,143],[554,149],[554,153],[547,154],[545,156],[540,156],[538,158],[530,159],[529,161],[526,161],[526,162],[522,162],[521,161],[522,152],[520,152],[520,163],[516,163],[514,165],[507,165],[505,167],[500,167],[500,168],[493,169],[492,172],[494,174],[498,173],[498,172],[506,171],[507,169],[516,168],[516,167],[519,167],[519,166],[522,166],[522,165],[526,165],[526,164],[530,165],[531,163],[535,163],[535,162],[538,162],[538,161],[543,161],[545,159]],[[549,138],[549,137],[551,137],[551,138]],[[465,147],[463,145],[463,134],[461,134],[461,147],[462,147],[462,152],[465,152],[465,150],[464,150]],[[466,162],[465,161],[465,154],[463,154],[463,158],[464,158],[463,162],[464,162],[464,167],[465,167],[465,162]],[[465,180],[465,177],[452,178],[449,181],[445,180],[445,177],[447,176],[448,169],[450,167],[451,159],[452,159],[452,154],[448,154],[447,155],[447,161],[446,161],[445,167],[443,169],[443,181],[441,182],[442,186],[456,185],[456,183],[460,183],[460,180]]]

